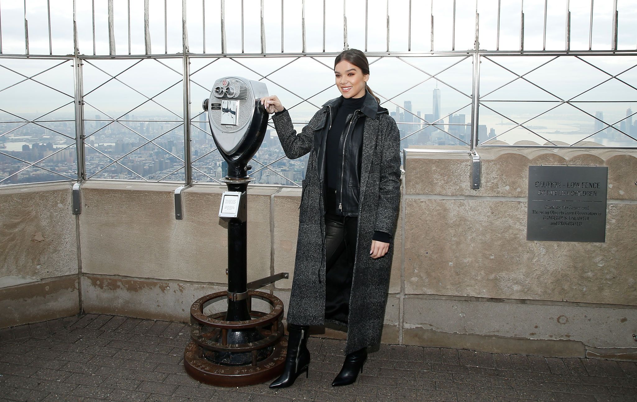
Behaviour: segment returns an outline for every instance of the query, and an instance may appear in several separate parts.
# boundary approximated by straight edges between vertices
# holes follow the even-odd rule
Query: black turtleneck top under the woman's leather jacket
[[[354,111],[360,110],[365,102],[367,94],[360,98],[343,98],[343,103],[333,116],[332,125],[327,132],[326,141],[326,184],[327,188],[336,188],[340,184],[340,177],[338,177],[338,170],[334,169],[336,164],[343,163],[343,149],[341,149],[341,136],[345,135],[347,116]],[[341,97],[342,98],[342,97]],[[351,120],[351,119],[350,119]]]

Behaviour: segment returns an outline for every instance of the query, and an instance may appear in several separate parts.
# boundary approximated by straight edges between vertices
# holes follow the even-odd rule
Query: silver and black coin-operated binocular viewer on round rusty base
[[[247,283],[247,188],[254,180],[248,176],[252,169],[248,162],[268,125],[268,113],[260,102],[264,96],[268,96],[264,83],[230,76],[215,81],[210,98],[203,101],[213,139],[228,164],[222,179],[228,191],[219,206],[219,217],[228,226],[228,290],[203,296],[190,307],[192,341],[184,352],[184,366],[193,378],[213,385],[252,385],[278,377],[287,352],[283,303],[254,289],[288,274]],[[253,298],[269,303],[270,311],[252,310]],[[224,300],[227,310],[204,311]]]

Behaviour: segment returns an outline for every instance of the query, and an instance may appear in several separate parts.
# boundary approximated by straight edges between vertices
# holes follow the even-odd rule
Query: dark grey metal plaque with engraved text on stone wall
[[[529,166],[526,239],[604,242],[608,167]]]

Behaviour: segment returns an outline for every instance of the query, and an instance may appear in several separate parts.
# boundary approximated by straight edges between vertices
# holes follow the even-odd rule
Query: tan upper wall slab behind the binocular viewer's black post
[[[85,274],[227,283],[227,224],[218,218],[220,186],[183,191],[175,219],[175,184],[88,182],[80,215]],[[270,195],[248,191],[248,281],[270,274]]]

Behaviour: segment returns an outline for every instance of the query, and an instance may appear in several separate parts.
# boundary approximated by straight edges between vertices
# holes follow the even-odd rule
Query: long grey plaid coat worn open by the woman
[[[330,104],[327,102],[326,105]],[[317,147],[329,124],[329,106],[324,105],[296,133],[287,111],[273,121],[283,151],[290,159],[310,153],[299,207],[299,233],[292,293],[287,322],[322,325],[325,322],[326,256],[322,177],[318,176]],[[347,345],[345,353],[380,343],[385,315],[393,240],[385,256],[369,256],[376,230],[393,235],[400,200],[400,137],[396,121],[387,109],[379,108],[375,118],[364,121],[358,240],[350,293]]]

